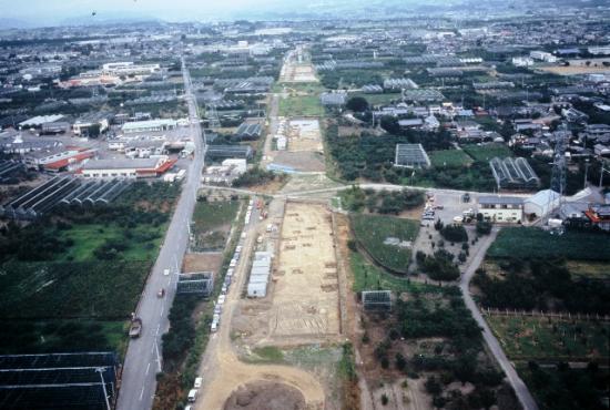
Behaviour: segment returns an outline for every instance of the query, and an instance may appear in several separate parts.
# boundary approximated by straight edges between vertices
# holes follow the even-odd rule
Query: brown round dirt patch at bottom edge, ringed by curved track
[[[224,410],[305,410],[305,399],[293,387],[258,381],[234,391]]]

